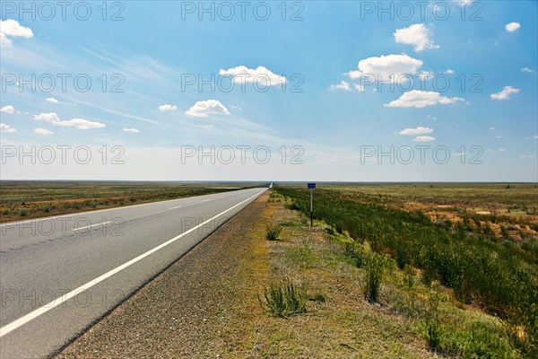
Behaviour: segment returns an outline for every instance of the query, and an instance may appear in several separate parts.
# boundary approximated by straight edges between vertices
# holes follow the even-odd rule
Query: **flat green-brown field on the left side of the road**
[[[0,223],[138,205],[253,187],[254,184],[96,181],[2,181]]]

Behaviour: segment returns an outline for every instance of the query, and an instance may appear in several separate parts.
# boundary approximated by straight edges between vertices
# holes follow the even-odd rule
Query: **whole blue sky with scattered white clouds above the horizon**
[[[538,181],[535,1],[25,4],[3,180]]]

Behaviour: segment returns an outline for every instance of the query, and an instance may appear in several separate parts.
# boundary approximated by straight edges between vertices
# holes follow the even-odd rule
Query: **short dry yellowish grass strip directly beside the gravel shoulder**
[[[253,327],[247,330],[245,356],[435,357],[413,328],[413,320],[364,301],[362,269],[344,250],[343,243],[351,241],[349,236],[329,234],[328,226],[319,221],[310,229],[303,224],[303,215],[286,209],[283,198],[274,198],[267,204],[266,223],[286,224],[282,225],[280,241],[265,241],[269,250],[267,279],[260,279],[253,298],[262,312],[258,311]],[[360,250],[367,248],[360,246]],[[306,311],[279,317],[260,305],[258,298],[266,302],[267,290],[277,287],[272,282],[282,288],[282,281],[303,286],[308,299]]]

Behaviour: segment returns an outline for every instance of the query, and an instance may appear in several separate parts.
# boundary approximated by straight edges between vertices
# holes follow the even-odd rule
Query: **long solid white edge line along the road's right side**
[[[117,274],[117,272],[125,269],[126,267],[129,267],[129,266],[133,265],[134,263],[142,260],[143,258],[146,258],[146,257],[152,255],[157,250],[161,250],[162,248],[168,246],[169,244],[171,244],[171,243],[173,243],[175,241],[178,241],[178,239],[180,239],[182,237],[185,237],[190,232],[194,232],[198,228],[202,227],[205,223],[210,223],[215,218],[220,217],[221,215],[224,215],[227,212],[230,212],[235,207],[241,206],[245,202],[249,201],[250,199],[252,199],[254,197],[257,197],[257,196],[261,195],[264,192],[265,192],[265,189],[263,191],[259,192],[259,193],[256,193],[256,195],[248,197],[244,201],[239,202],[237,205],[231,206],[227,210],[221,212],[219,215],[213,216],[213,218],[208,219],[204,223],[200,223],[200,224],[196,225],[194,228],[191,228],[190,230],[179,234],[178,236],[172,238],[169,241],[165,241],[164,243],[162,243],[162,244],[158,245],[157,247],[153,248],[152,250],[148,250],[147,252],[141,254],[140,256],[138,256],[136,258],[133,258],[133,259],[129,260],[128,262],[122,264],[121,266],[116,267],[116,268],[108,271],[104,275],[98,276],[97,278],[91,280],[90,282],[86,283],[85,285],[81,285],[78,288],[74,289],[73,291],[71,291],[69,293],[66,293],[65,295],[63,295],[63,296],[61,296],[59,298],[56,298],[54,301],[43,305],[42,307],[38,308],[37,310],[30,311],[30,313],[22,316],[18,320],[13,320],[11,323],[9,323],[9,324],[5,325],[4,327],[0,328],[0,337],[4,337],[6,334],[12,332],[16,328],[19,328],[19,327],[23,326],[24,324],[28,323],[30,320],[34,320],[34,319],[38,318],[41,314],[44,314],[47,311],[50,311],[51,309],[56,308],[58,305],[60,305],[60,304],[62,304],[64,302],[67,302],[68,300],[73,298],[75,295],[77,295],[77,294],[79,294],[79,293],[81,293],[81,292],[83,292],[85,290],[90,289],[93,285],[99,284],[100,282],[107,279],[109,276],[114,276],[115,274]]]

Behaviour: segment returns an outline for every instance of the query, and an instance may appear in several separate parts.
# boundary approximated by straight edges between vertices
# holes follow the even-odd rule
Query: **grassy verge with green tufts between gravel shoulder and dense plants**
[[[270,324],[256,327],[251,346],[264,348],[265,356],[523,357],[510,346],[501,320],[458,301],[437,278],[423,284],[423,270],[409,263],[400,269],[394,258],[373,252],[368,240],[354,241],[319,220],[313,229],[299,225],[305,215],[285,209],[289,203],[284,197],[268,205],[272,220],[288,223],[283,241],[267,242],[269,276],[306,283],[308,296],[321,294],[325,302],[308,301],[307,312],[284,321],[270,317]],[[370,270],[376,300],[365,295]],[[269,327],[278,340],[261,337]]]

